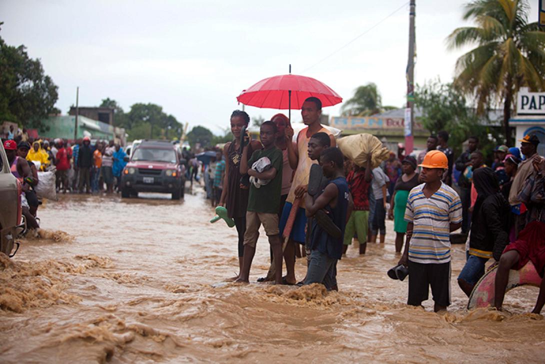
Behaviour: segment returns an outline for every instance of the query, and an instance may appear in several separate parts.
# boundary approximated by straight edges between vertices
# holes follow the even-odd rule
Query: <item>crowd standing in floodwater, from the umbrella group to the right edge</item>
[[[321,283],[337,290],[337,262],[354,239],[359,253],[369,243],[384,244],[385,219],[393,219],[399,266],[409,275],[408,304],[420,306],[431,288],[434,311],[451,304],[451,232],[466,238],[467,261],[458,276],[468,296],[498,265],[494,305],[501,309],[508,271],[531,261],[540,276],[545,266],[545,161],[539,140],[528,135],[520,148],[500,145],[491,166],[472,136],[455,159],[449,134],[431,135],[417,156],[391,153],[373,168],[343,157],[329,129],[319,122],[321,103],[308,98],[301,109],[306,128],[293,141],[288,118],[277,114],[260,128],[259,141],[241,133],[250,122],[244,111],[231,115],[232,142],[215,160],[225,206],[238,232],[239,274],[249,282],[259,227],[270,243],[271,265],[258,282]],[[217,162],[215,162],[217,163]],[[215,179],[215,178],[214,178]],[[305,277],[295,277],[295,259],[306,257]],[[282,261],[286,264],[283,275]],[[545,288],[534,308],[541,312]]]

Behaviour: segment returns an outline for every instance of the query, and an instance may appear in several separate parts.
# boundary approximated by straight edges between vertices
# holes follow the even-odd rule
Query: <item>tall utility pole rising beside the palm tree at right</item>
[[[407,109],[405,109],[405,156],[413,151],[414,130],[414,44],[416,16],[416,0],[409,5],[409,59],[407,62]]]

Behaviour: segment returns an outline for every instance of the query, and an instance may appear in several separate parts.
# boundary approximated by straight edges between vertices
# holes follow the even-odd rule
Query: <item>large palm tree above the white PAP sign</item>
[[[545,32],[528,22],[526,0],[475,0],[465,5],[464,20],[474,27],[455,29],[451,49],[476,45],[456,62],[454,86],[475,97],[477,111],[504,104],[504,132],[511,145],[509,118],[513,97],[522,86],[545,89]]]

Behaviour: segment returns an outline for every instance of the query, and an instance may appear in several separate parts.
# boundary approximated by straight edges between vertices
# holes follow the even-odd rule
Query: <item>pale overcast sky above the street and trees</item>
[[[445,38],[464,26],[464,3],[416,0],[417,83],[452,79],[462,51],[447,50]],[[530,4],[536,21],[537,0]],[[405,99],[409,5],[403,0],[2,0],[0,21],[0,37],[41,59],[59,86],[63,114],[80,86],[82,106],[98,106],[106,97],[125,111],[156,103],[190,129],[203,125],[221,134],[231,112],[242,108],[238,94],[288,73],[290,63],[292,73],[326,83],[345,100],[367,82],[378,85],[384,105],[401,107]],[[246,111],[264,118],[277,112]],[[299,121],[299,112],[292,117]]]

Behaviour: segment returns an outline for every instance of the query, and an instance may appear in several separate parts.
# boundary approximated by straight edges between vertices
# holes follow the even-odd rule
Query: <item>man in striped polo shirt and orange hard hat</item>
[[[462,225],[458,194],[441,182],[448,160],[441,151],[426,153],[420,178],[409,193],[405,221],[407,242],[399,264],[409,267],[408,305],[421,306],[432,287],[434,312],[450,305],[450,232]]]

